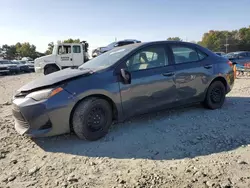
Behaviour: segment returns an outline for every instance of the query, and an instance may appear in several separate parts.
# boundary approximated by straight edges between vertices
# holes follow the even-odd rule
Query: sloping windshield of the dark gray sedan
[[[79,67],[79,69],[105,69],[114,65],[118,60],[127,55],[133,49],[137,48],[139,44],[127,45],[119,48],[114,48],[104,54],[101,54]]]

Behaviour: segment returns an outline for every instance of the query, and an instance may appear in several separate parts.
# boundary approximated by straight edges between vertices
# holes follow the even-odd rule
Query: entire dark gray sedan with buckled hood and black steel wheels
[[[20,88],[13,98],[15,128],[33,137],[73,130],[97,140],[113,121],[137,114],[200,102],[221,108],[233,84],[232,63],[199,45],[126,45]]]

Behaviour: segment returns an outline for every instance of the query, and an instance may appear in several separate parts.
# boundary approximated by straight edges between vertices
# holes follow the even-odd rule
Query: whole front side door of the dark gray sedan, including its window
[[[163,45],[145,47],[125,63],[131,84],[120,83],[123,111],[126,116],[161,108],[176,100],[174,65],[169,63]]]

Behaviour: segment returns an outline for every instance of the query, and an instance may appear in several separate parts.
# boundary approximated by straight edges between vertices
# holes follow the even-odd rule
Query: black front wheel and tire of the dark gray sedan
[[[112,108],[100,98],[83,100],[72,116],[73,130],[80,139],[95,141],[104,137],[112,124]]]

